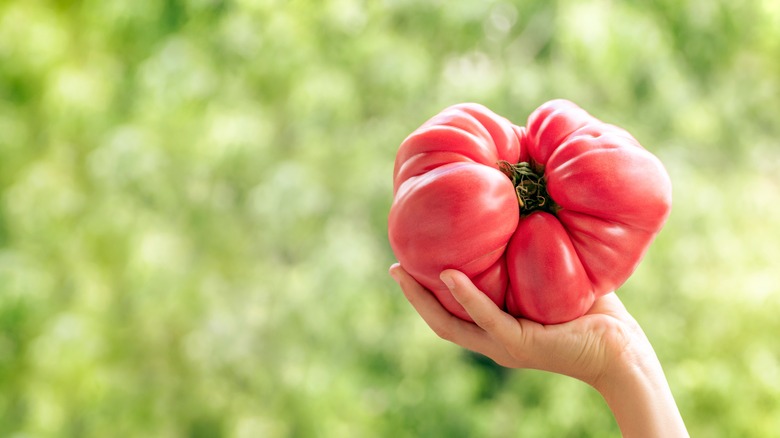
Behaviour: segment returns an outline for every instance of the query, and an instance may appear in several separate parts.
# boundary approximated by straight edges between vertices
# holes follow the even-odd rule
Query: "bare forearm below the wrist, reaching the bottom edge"
[[[655,354],[604,376],[596,389],[626,438],[687,437],[680,411]]]

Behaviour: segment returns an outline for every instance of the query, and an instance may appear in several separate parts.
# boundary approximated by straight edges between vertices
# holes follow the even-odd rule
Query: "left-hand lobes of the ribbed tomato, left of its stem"
[[[420,284],[467,321],[439,274],[461,270],[504,306],[504,252],[520,214],[497,162],[519,159],[516,129],[481,105],[456,105],[407,137],[396,158],[390,246]]]

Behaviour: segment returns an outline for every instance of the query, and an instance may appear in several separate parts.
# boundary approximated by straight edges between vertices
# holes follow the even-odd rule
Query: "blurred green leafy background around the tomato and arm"
[[[387,275],[403,138],[557,97],[671,174],[619,294],[691,434],[776,436],[776,0],[0,1],[0,436],[619,436]]]

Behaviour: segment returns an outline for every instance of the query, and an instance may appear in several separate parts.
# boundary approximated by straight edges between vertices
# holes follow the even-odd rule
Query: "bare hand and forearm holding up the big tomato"
[[[542,325],[503,312],[469,278],[446,270],[441,280],[475,323],[445,310],[399,264],[390,275],[442,339],[481,353],[499,365],[563,374],[595,388],[624,437],[687,437],[661,364],[639,324],[614,293],[582,317]]]

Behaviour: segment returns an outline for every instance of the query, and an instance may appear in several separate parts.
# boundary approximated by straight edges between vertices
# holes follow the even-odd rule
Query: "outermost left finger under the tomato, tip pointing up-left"
[[[448,312],[431,292],[417,283],[399,264],[390,267],[390,275],[401,286],[406,299],[417,313],[440,338],[484,354],[499,364],[508,366],[511,362],[511,356],[496,345],[484,330]]]

